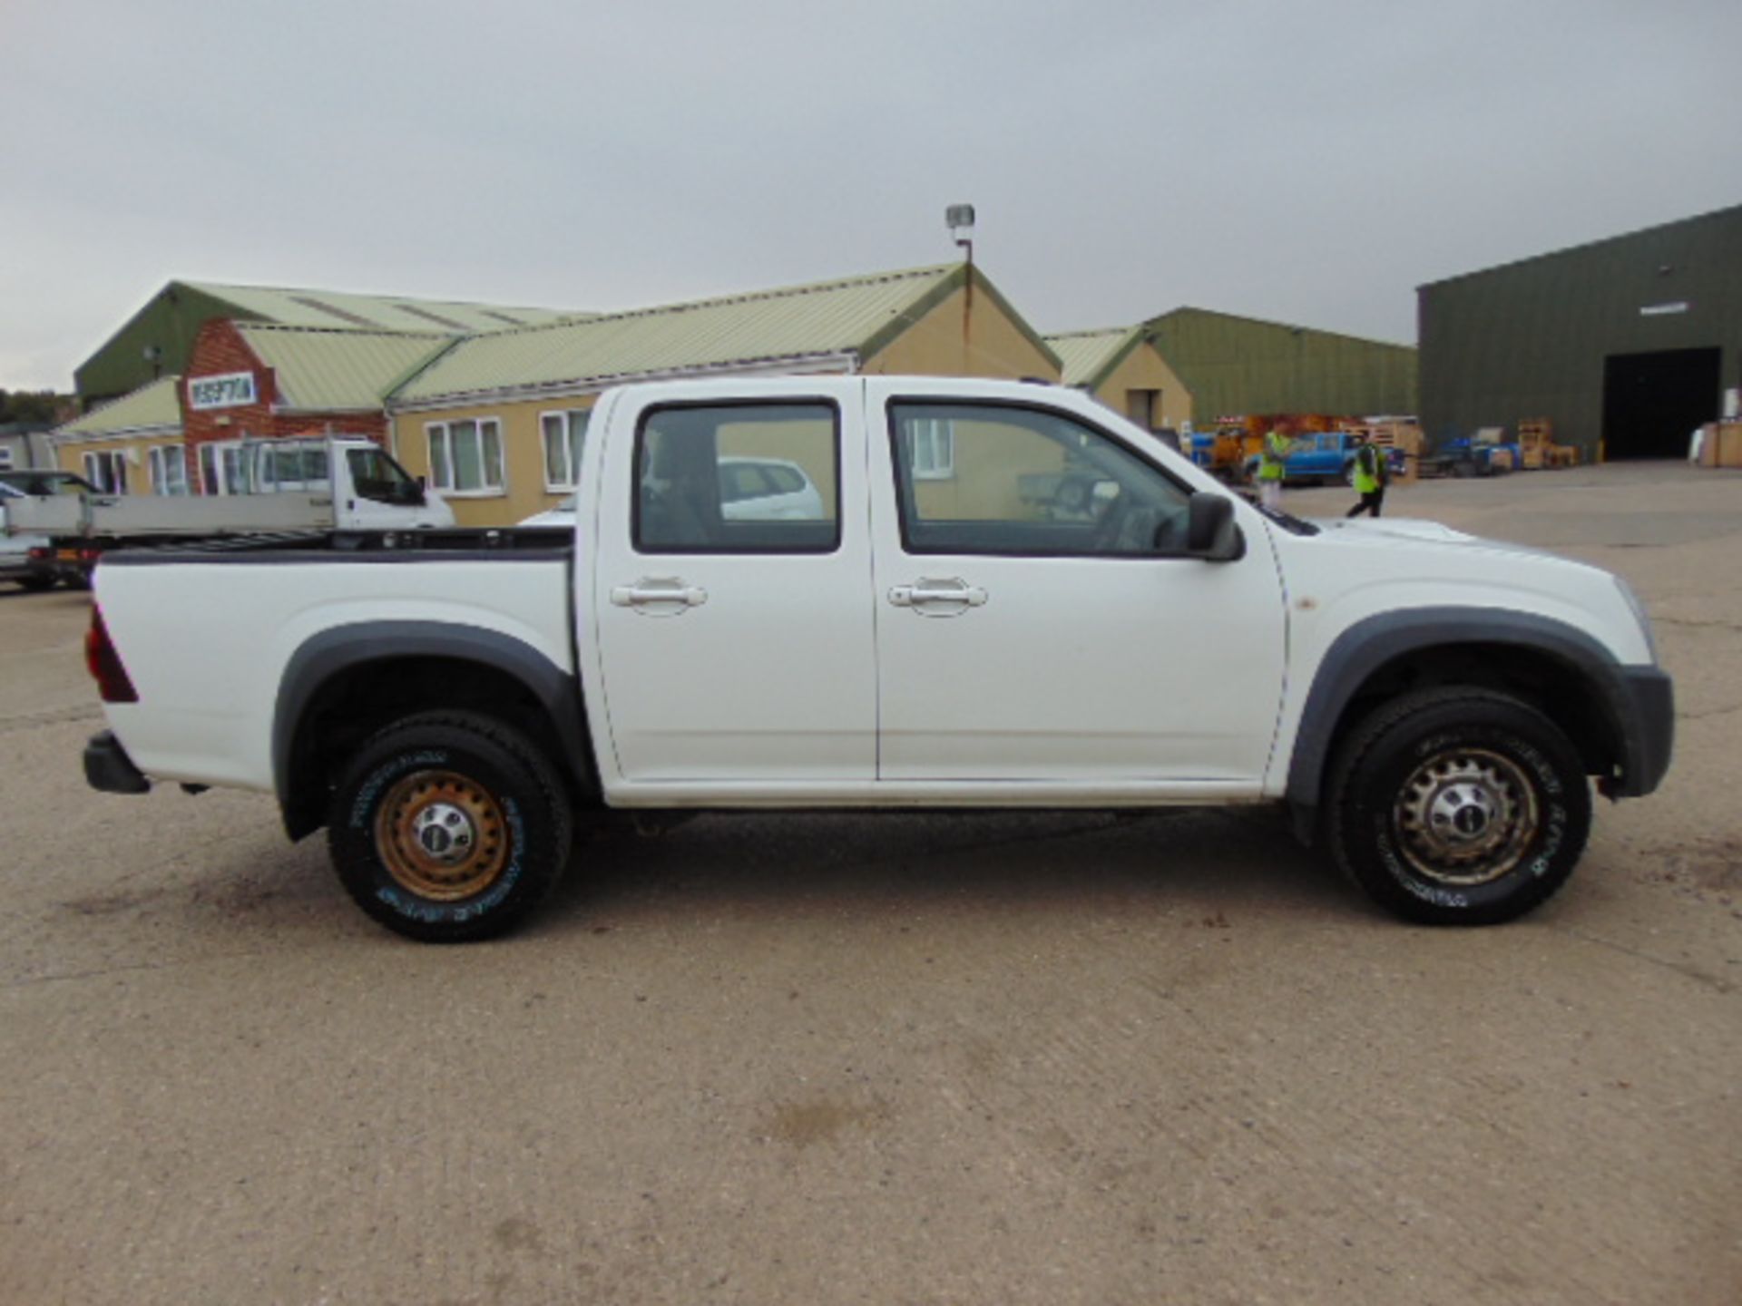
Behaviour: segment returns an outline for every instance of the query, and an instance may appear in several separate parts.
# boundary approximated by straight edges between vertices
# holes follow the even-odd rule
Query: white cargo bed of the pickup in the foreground
[[[334,630],[383,650],[425,625],[502,636],[571,676],[571,540],[568,529],[326,531],[106,554],[98,608],[139,693],[111,703],[110,719],[153,777],[272,791],[286,669]]]

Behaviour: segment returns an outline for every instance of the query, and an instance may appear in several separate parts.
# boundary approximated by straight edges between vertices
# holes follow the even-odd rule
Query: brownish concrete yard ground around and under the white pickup
[[[1510,926],[1270,815],[711,817],[420,947],[267,798],[89,792],[87,599],[0,594],[0,1301],[1742,1301],[1742,479],[1390,508],[1624,573],[1678,677]]]

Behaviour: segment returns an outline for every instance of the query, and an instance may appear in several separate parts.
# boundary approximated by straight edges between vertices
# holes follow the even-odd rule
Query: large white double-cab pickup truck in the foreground
[[[817,503],[728,510],[756,461]],[[1617,576],[1266,515],[1014,381],[611,390],[564,531],[129,550],[96,589],[89,782],[272,792],[425,940],[523,919],[603,808],[1286,804],[1394,912],[1503,921],[1571,872],[1589,777],[1671,754]]]

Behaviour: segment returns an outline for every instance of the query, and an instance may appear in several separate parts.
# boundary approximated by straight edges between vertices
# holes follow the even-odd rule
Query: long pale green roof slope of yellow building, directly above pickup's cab
[[[960,263],[793,286],[524,331],[472,336],[395,402],[519,388],[608,385],[631,376],[874,353],[965,280]],[[976,284],[984,284],[976,279]]]

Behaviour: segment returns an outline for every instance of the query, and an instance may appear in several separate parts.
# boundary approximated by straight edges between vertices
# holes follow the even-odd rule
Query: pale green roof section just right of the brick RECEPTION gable
[[[378,409],[387,394],[453,343],[446,334],[334,331],[239,322],[254,355],[273,369],[279,406],[301,411]]]

